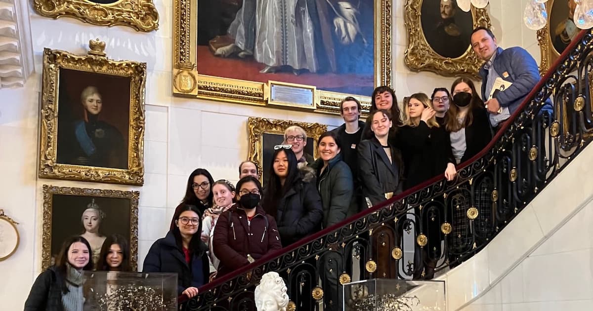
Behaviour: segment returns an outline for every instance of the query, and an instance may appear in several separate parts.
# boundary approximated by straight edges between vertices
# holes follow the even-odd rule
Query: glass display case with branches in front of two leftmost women
[[[84,310],[177,310],[177,275],[84,271]]]

